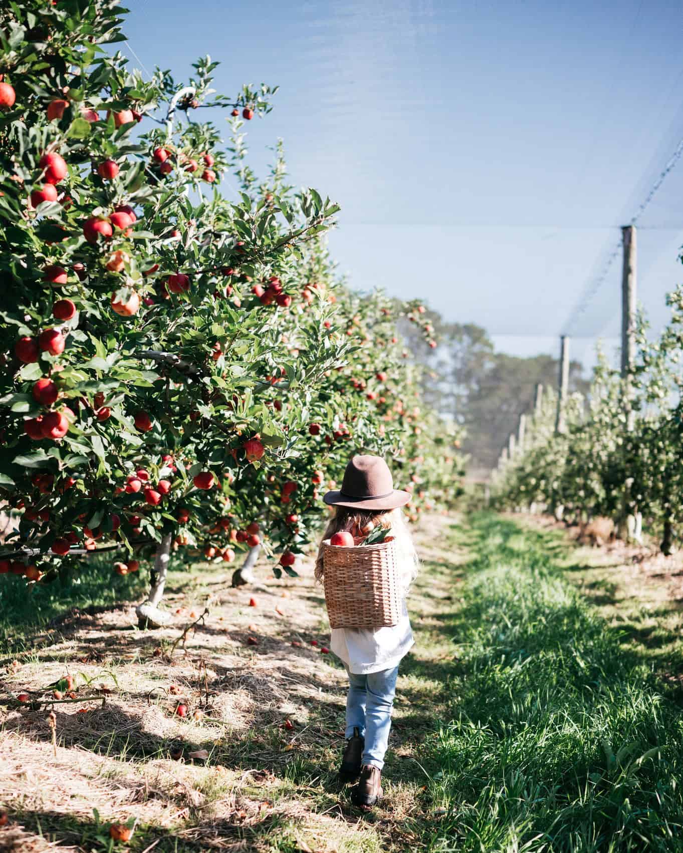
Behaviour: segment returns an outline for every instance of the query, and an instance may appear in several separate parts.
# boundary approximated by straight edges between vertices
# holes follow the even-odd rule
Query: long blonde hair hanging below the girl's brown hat
[[[401,582],[407,591],[417,577],[419,560],[406,520],[400,509],[366,509],[363,511],[349,507],[335,507],[334,514],[325,528],[323,539],[329,539],[339,531],[350,531],[354,536],[361,536],[371,527],[377,526],[384,527],[387,530],[391,528],[399,554]],[[315,577],[318,581],[322,581],[323,575],[323,543],[321,542],[315,561]]]

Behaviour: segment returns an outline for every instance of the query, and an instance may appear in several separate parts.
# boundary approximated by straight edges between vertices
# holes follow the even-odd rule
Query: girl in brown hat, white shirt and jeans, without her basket
[[[348,673],[346,748],[339,771],[343,781],[359,779],[351,792],[353,802],[371,809],[382,797],[382,767],[387,751],[391,710],[394,705],[400,659],[413,645],[406,593],[417,577],[417,555],[400,507],[410,500],[406,491],[394,489],[387,463],[380,456],[353,456],[342,489],[324,495],[335,508],[324,532],[329,539],[338,531],[364,536],[381,525],[391,528],[399,554],[403,612],[399,623],[384,628],[334,628],[330,648]],[[322,543],[315,576],[324,573]]]

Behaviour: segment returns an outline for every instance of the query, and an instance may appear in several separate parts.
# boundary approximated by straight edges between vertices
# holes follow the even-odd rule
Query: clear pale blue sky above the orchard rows
[[[422,297],[500,349],[557,351],[594,270],[683,137],[683,3],[133,0],[130,47],[217,88],[279,84],[249,125],[292,183],[342,204],[330,248],[355,287]],[[227,126],[226,126],[227,130]],[[228,192],[228,190],[226,190]],[[657,327],[681,277],[683,163],[639,224]],[[590,361],[619,329],[618,260],[567,329]]]

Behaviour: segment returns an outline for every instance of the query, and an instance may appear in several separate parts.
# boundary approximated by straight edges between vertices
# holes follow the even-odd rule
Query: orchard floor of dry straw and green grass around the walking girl
[[[0,850],[108,850],[128,818],[134,853],[683,850],[680,709],[577,588],[575,549],[491,514],[428,519],[417,544],[382,808],[361,815],[336,783],[345,674],[320,651],[312,566],[247,592],[199,566],[172,573],[172,628],[102,606],[0,657],[0,694],[67,670],[79,695],[113,691],[56,707],[56,755],[46,711],[0,708]]]

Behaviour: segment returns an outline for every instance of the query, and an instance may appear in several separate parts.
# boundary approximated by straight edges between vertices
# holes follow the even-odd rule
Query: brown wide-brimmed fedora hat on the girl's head
[[[342,488],[323,496],[325,503],[352,509],[395,509],[411,496],[394,489],[394,480],[382,456],[353,456],[344,472]]]

